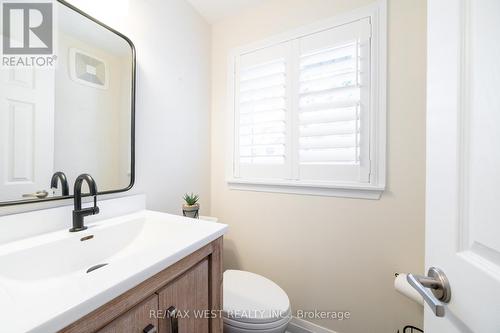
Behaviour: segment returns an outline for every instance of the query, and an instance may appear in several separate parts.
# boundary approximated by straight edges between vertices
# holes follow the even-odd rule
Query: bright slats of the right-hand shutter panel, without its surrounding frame
[[[301,164],[359,163],[359,62],[356,40],[301,55]]]

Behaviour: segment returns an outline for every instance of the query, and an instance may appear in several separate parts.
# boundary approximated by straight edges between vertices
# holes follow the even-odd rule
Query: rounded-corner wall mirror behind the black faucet
[[[99,194],[134,183],[133,44],[54,6],[54,67],[0,70],[0,205],[68,198],[82,173]]]

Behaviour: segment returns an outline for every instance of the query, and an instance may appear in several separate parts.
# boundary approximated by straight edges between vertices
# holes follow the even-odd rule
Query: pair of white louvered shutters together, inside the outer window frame
[[[233,177],[370,182],[369,18],[239,54]]]

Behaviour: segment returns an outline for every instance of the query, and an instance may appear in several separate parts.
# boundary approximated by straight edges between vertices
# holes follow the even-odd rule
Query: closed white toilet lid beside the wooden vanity
[[[224,317],[245,323],[281,322],[290,317],[287,294],[273,281],[258,274],[224,272]]]

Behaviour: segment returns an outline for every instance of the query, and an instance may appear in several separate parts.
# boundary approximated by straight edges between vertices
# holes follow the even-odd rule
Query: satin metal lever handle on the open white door
[[[444,317],[444,305],[451,299],[451,288],[448,278],[442,270],[429,268],[427,276],[408,274],[408,283],[424,298],[437,317]],[[430,290],[429,290],[430,289]]]

